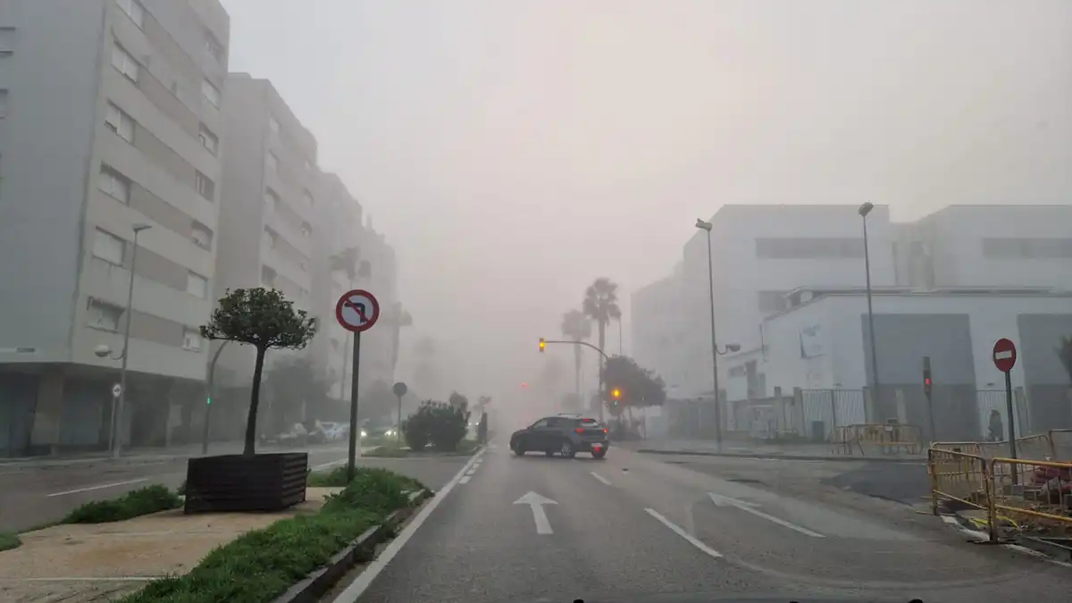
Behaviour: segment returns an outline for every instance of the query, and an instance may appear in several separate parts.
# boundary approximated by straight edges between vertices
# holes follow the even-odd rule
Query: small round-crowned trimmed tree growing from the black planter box
[[[257,432],[257,406],[260,401],[260,376],[265,354],[272,348],[300,350],[316,334],[316,319],[304,310],[295,310],[276,289],[227,290],[212,311],[208,324],[200,327],[205,339],[222,339],[253,345],[253,387],[250,412],[245,420],[245,446],[242,454],[253,455]]]

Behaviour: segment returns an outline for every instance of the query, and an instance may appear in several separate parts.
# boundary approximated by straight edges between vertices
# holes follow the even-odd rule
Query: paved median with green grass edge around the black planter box
[[[345,484],[345,468],[313,473],[310,483]],[[307,502],[282,513],[183,515],[173,509],[26,532],[21,546],[0,553],[0,599],[315,601],[371,558],[427,496],[416,480],[361,468],[346,487],[310,487]],[[91,509],[98,510],[93,517],[118,518],[132,508]]]

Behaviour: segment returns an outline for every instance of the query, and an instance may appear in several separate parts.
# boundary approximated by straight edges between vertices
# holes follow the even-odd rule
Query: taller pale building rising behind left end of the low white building
[[[804,285],[863,285],[863,219],[855,205],[725,205],[711,218],[711,262],[718,345],[742,349],[763,342],[762,319],[787,307],[786,294]],[[890,211],[876,206],[867,216],[874,286],[894,284]],[[685,389],[711,392],[711,311],[708,233],[685,244],[682,310],[685,330],[682,369]],[[724,371],[725,372],[725,371]],[[723,377],[721,379],[725,379]]]

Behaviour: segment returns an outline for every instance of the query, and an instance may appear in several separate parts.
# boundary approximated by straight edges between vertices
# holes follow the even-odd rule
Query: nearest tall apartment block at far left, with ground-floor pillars
[[[228,43],[218,0],[0,2],[0,456],[107,445],[128,318],[123,441],[200,397]]]

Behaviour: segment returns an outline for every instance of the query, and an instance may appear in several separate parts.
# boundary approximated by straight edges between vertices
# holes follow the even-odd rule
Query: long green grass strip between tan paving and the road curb
[[[190,573],[152,582],[119,603],[268,603],[406,506],[405,492],[415,487],[423,486],[386,469],[359,469],[344,490],[326,497],[319,513],[247,532],[209,553]]]

